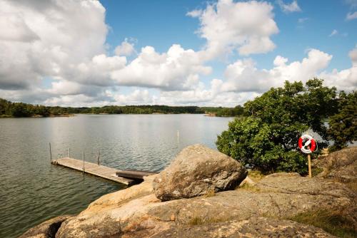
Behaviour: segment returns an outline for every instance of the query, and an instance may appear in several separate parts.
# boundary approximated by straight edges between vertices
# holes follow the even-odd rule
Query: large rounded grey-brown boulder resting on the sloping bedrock
[[[191,145],[160,172],[153,187],[161,201],[176,200],[233,190],[246,175],[246,169],[231,157],[203,145]]]

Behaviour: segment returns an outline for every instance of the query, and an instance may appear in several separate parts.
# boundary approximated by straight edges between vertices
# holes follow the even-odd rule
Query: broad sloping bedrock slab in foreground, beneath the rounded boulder
[[[289,220],[314,211],[338,214],[357,231],[357,194],[336,180],[282,172],[236,190],[162,202],[153,187],[158,176],[99,198],[64,220],[56,237],[332,237]]]

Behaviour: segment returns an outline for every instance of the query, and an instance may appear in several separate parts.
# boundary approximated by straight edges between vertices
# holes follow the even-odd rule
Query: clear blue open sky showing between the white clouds
[[[115,48],[124,38],[135,38],[138,49],[154,46],[157,51],[165,52],[178,43],[183,48],[198,50],[205,44],[195,33],[199,22],[186,14],[211,2],[101,0],[106,8],[106,23],[111,26],[106,42]],[[357,21],[346,21],[346,14],[353,11],[351,4],[343,0],[305,0],[298,1],[301,11],[284,13],[276,1],[269,2],[274,6],[274,19],[280,32],[272,37],[277,45],[273,51],[252,56],[258,68],[270,68],[276,55],[300,60],[308,48],[331,53],[331,69],[351,66],[348,52],[357,43]],[[299,23],[299,19],[303,22]],[[330,37],[333,30],[338,34]]]

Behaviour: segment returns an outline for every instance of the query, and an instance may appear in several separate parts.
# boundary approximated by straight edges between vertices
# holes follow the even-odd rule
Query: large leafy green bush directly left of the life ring
[[[303,86],[286,81],[244,105],[246,118],[236,118],[218,135],[218,150],[263,171],[306,173],[306,156],[297,150],[301,133],[311,128],[328,138],[323,121],[336,111],[336,88],[314,78]],[[326,142],[318,142],[321,147]]]

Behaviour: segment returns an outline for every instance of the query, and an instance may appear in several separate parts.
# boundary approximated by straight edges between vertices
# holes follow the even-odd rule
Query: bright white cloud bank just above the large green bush
[[[288,63],[288,58],[276,56],[271,69],[258,70],[251,59],[238,60],[227,66],[225,81],[221,82],[221,92],[262,93],[271,87],[283,86],[285,81],[303,81],[318,77],[323,78],[327,86],[338,90],[356,90],[357,88],[357,48],[350,51],[353,66],[338,71],[324,71],[332,56],[317,49],[308,51],[308,56],[301,61]]]

